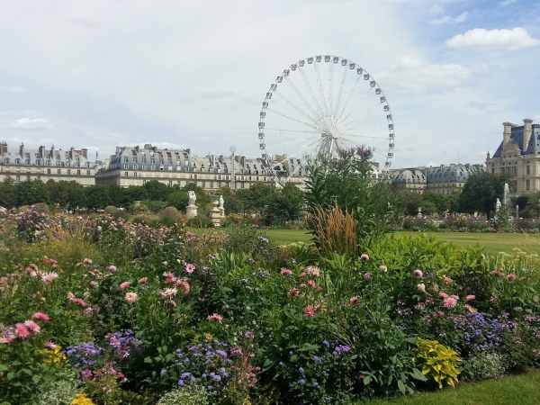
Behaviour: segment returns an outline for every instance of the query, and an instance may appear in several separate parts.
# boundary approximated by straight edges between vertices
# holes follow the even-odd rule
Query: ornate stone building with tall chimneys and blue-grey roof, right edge
[[[536,193],[540,190],[540,125],[530,119],[523,120],[521,126],[511,122],[502,125],[502,141],[492,157],[488,152],[486,169],[513,175],[513,195]]]

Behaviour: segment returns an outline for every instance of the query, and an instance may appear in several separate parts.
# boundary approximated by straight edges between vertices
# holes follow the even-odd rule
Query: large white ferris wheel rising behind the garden
[[[393,127],[383,90],[363,67],[338,56],[314,56],[293,63],[270,86],[258,122],[259,148],[279,183],[298,175],[306,155],[335,156],[339,148],[359,145],[373,150],[374,170],[386,175]]]

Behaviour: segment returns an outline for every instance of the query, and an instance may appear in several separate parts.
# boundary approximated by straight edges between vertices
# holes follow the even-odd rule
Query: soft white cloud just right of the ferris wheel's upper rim
[[[464,85],[470,76],[471,71],[461,65],[428,64],[412,56],[402,57],[397,64],[377,75],[388,84],[385,88],[412,94],[452,91]]]

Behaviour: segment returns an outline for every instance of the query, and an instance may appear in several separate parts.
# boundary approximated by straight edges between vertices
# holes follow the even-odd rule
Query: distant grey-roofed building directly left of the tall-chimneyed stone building
[[[461,193],[469,177],[475,173],[485,172],[483,165],[430,166],[426,169],[428,179],[426,190],[430,193]]]

